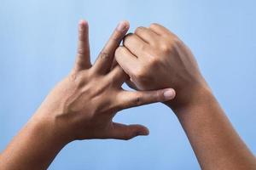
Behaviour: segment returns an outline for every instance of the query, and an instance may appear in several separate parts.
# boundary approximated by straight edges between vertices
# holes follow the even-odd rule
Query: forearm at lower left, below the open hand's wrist
[[[0,169],[47,169],[65,144],[54,120],[36,114],[3,151]]]

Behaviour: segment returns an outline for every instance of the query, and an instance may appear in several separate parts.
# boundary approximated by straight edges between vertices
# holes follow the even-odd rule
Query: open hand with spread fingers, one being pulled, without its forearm
[[[88,24],[80,22],[78,57],[73,71],[53,89],[38,111],[40,118],[55,120],[61,136],[73,140],[131,139],[147,135],[147,127],[112,122],[113,116],[126,108],[174,98],[172,88],[148,92],[121,88],[127,75],[119,65],[113,66],[113,54],[128,29],[129,23],[120,23],[95,65],[91,65]]]

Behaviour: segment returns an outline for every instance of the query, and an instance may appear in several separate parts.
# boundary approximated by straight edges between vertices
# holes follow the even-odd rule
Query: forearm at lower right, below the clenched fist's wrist
[[[202,169],[256,169],[256,160],[240,139],[211,91],[203,88],[191,105],[175,109]]]

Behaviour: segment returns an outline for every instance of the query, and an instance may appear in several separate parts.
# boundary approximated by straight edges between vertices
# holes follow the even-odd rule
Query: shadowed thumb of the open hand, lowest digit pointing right
[[[148,135],[148,133],[148,128],[142,125],[125,125],[113,122],[113,128],[109,131],[109,138],[129,140],[138,135]]]

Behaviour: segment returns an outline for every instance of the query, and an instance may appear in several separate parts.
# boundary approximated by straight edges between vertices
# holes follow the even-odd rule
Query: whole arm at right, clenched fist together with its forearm
[[[202,169],[256,169],[256,160],[238,136],[202,77],[195,57],[159,24],[128,34],[115,59],[138,90],[172,87],[176,98],[164,102],[181,123]]]

